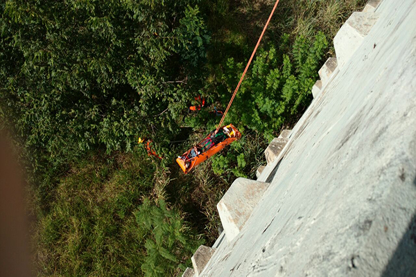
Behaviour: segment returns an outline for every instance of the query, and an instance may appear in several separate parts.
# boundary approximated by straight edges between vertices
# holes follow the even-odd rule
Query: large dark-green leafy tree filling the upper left
[[[200,84],[209,36],[196,2],[0,4],[1,114],[53,163],[164,141]]]

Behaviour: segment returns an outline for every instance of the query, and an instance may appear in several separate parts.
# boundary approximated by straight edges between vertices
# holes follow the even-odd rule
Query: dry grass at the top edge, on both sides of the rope
[[[234,44],[250,53],[275,0],[218,2],[226,2],[228,12],[223,18],[211,19],[210,23],[216,29],[214,40]],[[331,40],[349,15],[362,10],[366,2],[367,0],[282,0],[270,21],[263,45],[267,42],[277,44],[284,33],[291,34],[294,39],[297,35],[313,36],[322,31]],[[223,3],[223,6],[226,4]]]

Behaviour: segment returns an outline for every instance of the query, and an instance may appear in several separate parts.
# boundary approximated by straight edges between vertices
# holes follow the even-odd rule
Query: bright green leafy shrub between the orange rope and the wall
[[[226,121],[247,126],[272,139],[281,125],[309,105],[318,66],[327,47],[326,37],[318,33],[313,41],[297,37],[291,55],[279,54],[274,46],[268,51],[260,49]],[[241,64],[229,59],[222,79],[229,93],[234,90],[236,75],[228,71],[234,68],[241,68]]]

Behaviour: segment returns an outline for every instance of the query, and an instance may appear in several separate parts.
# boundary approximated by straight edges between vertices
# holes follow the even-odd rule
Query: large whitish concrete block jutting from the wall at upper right
[[[338,66],[343,68],[379,18],[375,12],[354,12],[333,38]]]

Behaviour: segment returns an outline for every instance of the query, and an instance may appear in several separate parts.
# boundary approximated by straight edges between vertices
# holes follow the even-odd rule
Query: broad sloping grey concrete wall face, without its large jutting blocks
[[[376,13],[202,276],[415,276],[416,1]]]

